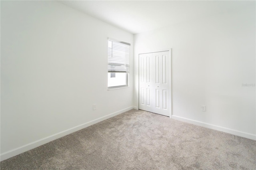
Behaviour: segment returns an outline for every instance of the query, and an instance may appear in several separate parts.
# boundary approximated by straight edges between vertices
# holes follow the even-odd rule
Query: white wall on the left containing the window
[[[108,37],[131,43],[130,87],[107,90]],[[132,109],[133,84],[132,34],[59,2],[1,1],[1,159]]]

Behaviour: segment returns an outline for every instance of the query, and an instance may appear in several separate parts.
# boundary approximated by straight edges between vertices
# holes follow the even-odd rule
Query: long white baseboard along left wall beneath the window
[[[104,121],[104,120],[106,120],[106,119],[109,119],[109,118],[111,118],[111,117],[114,117],[114,116],[116,116],[116,115],[119,115],[119,114],[121,114],[121,113],[124,113],[124,112],[126,112],[126,111],[129,111],[129,110],[131,110],[131,109],[136,109],[136,108],[137,108],[137,107],[135,107],[135,106],[131,106],[131,107],[128,107],[128,108],[126,108],[126,109],[122,109],[122,110],[120,110],[120,111],[117,111],[117,112],[115,112],[115,113],[111,113],[111,114],[109,114],[109,115],[106,115],[106,116],[104,116],[104,117],[100,117],[100,118],[95,119],[95,120],[93,120],[93,121],[89,121],[89,122],[84,123],[84,124],[82,124],[82,125],[78,125],[78,126],[76,126],[76,127],[69,128],[69,129],[64,130],[64,131],[62,131],[62,132],[58,132],[58,133],[53,134],[53,135],[51,135],[51,136],[47,136],[47,137],[45,137],[45,138],[36,140],[36,141],[31,142],[31,143],[28,143],[28,144],[25,144],[25,145],[20,146],[20,147],[18,147],[18,148],[9,150],[9,151],[4,152],[4,153],[2,153],[2,154],[0,155],[0,160],[1,160],[1,161],[2,161],[2,160],[6,160],[6,159],[11,158],[11,157],[13,157],[13,156],[16,156],[16,155],[18,155],[18,154],[21,154],[21,153],[23,153],[23,152],[26,152],[26,151],[28,151],[28,150],[31,150],[31,149],[33,149],[33,148],[36,148],[36,147],[41,146],[41,145],[43,145],[43,144],[46,144],[46,143],[48,143],[48,142],[50,142],[50,141],[52,141],[52,140],[55,140],[55,139],[61,138],[61,137],[63,137],[63,136],[66,136],[67,134],[76,132],[77,130],[81,130],[82,128],[89,127],[89,126],[91,126],[91,125],[94,125],[95,123],[99,123],[99,122],[101,122],[101,121]]]

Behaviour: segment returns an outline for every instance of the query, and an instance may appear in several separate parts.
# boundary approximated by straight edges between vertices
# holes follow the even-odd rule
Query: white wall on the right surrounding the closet
[[[255,1],[242,10],[134,36],[138,54],[172,48],[172,118],[255,138]],[[206,105],[206,112],[200,106]]]

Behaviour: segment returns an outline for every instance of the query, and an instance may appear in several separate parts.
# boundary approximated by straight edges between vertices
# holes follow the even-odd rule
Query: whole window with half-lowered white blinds
[[[128,86],[130,44],[108,39],[108,89]]]

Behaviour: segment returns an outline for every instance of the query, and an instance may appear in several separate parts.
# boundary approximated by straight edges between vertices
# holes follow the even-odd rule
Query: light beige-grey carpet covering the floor
[[[256,169],[256,141],[131,110],[1,162],[1,170]]]

